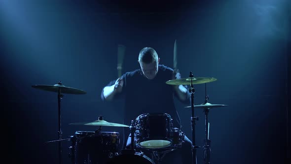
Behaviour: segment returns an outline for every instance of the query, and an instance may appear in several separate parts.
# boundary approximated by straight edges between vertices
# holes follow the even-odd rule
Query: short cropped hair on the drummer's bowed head
[[[145,47],[140,51],[139,61],[149,64],[158,60],[157,52],[151,47]]]

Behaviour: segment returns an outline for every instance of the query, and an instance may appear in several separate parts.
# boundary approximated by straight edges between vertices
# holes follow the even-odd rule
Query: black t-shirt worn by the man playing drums
[[[146,113],[167,113],[173,119],[173,126],[180,128],[181,121],[174,103],[174,96],[178,99],[173,85],[166,84],[172,80],[173,69],[159,65],[158,73],[152,80],[147,79],[142,69],[126,72],[123,78],[122,92],[115,94],[114,99],[124,98],[124,124],[130,125],[131,120]],[[109,82],[107,86],[113,85],[116,80]],[[186,86],[187,87],[187,86]],[[104,99],[103,92],[101,99]],[[190,94],[185,101],[190,104]]]

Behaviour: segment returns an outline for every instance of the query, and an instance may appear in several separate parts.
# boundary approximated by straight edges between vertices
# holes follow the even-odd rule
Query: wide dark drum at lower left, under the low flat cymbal
[[[74,148],[75,164],[105,164],[118,155],[119,132],[76,131]]]

